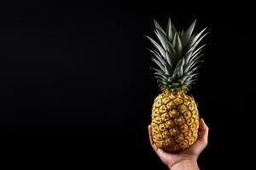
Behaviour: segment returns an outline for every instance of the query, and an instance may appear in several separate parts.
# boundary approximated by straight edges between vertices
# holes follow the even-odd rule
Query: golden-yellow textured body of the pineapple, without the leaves
[[[184,91],[159,94],[154,99],[151,119],[154,144],[162,150],[185,150],[198,137],[197,105]]]

